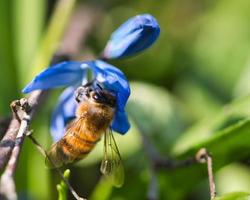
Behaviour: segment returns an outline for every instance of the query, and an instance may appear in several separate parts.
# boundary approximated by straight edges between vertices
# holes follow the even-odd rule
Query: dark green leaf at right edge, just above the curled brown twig
[[[250,155],[250,120],[243,120],[215,132],[207,140],[190,147],[181,157],[195,155],[202,147],[212,153],[215,167],[246,158]]]

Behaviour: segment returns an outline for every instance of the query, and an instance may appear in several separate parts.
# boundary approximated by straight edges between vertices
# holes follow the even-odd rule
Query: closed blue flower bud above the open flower
[[[131,56],[150,47],[160,34],[156,19],[149,15],[137,15],[122,24],[104,49],[105,59]]]

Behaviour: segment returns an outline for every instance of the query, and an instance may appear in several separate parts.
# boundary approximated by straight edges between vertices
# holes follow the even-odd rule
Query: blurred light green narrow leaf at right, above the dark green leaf
[[[248,117],[250,117],[250,95],[233,101],[212,118],[203,119],[189,128],[174,144],[172,154],[183,154],[192,146],[204,143],[213,137],[215,132]]]

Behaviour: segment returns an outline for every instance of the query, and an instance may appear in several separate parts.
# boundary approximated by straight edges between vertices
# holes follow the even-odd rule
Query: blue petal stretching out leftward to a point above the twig
[[[86,66],[81,62],[61,62],[55,64],[37,75],[24,89],[23,93],[33,90],[75,85],[81,83],[85,76]]]

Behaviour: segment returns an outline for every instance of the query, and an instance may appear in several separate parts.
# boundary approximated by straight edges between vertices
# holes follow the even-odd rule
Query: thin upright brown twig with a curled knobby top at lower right
[[[205,148],[202,148],[196,154],[196,160],[200,163],[207,163],[210,198],[213,199],[216,197],[216,190],[215,190],[215,182],[214,182],[214,175],[213,175],[212,157]]]

